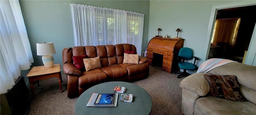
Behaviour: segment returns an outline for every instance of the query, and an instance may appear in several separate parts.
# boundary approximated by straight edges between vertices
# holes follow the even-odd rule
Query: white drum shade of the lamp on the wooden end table
[[[56,54],[54,44],[52,42],[36,43],[36,55],[45,56]]]

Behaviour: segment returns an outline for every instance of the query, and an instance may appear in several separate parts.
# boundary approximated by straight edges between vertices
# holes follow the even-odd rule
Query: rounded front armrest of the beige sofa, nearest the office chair
[[[199,96],[204,96],[210,91],[210,86],[206,79],[204,79],[204,74],[207,73],[194,73],[180,81],[180,87],[191,91]]]

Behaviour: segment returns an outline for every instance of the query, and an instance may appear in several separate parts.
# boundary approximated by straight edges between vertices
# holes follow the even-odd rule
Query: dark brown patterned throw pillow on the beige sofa
[[[246,101],[240,91],[236,76],[204,74],[204,78],[210,85],[210,93],[212,97],[236,101]]]

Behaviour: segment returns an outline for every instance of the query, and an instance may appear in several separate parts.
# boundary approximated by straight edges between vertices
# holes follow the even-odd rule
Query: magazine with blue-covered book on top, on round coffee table
[[[118,93],[92,93],[87,107],[116,107]]]

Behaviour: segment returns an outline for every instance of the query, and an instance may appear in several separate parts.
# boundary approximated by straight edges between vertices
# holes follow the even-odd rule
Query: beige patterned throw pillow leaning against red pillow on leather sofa
[[[101,67],[100,57],[86,58],[83,61],[86,71]]]

